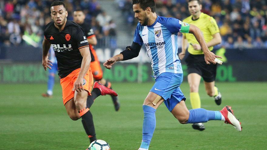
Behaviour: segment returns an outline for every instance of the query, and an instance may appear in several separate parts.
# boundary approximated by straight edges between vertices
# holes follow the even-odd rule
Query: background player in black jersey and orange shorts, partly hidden
[[[87,37],[87,41],[90,46],[90,52],[91,52],[91,63],[90,67],[93,72],[93,77],[96,81],[100,81],[103,85],[105,85],[108,88],[111,88],[111,83],[103,78],[103,71],[100,67],[100,62],[97,58],[96,52],[93,48],[97,44],[96,35],[94,34],[93,29],[91,26],[85,22],[85,14],[81,10],[76,10],[73,12],[73,21],[76,22],[78,25],[80,25],[85,32],[85,35]],[[111,88],[112,89],[112,88]],[[117,96],[111,96],[115,110],[118,111],[120,109],[120,103]]]

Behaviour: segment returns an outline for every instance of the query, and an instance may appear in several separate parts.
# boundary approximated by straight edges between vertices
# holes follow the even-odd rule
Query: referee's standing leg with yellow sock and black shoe
[[[188,84],[190,86],[190,102],[193,109],[201,108],[200,96],[198,93],[201,76],[197,73],[190,73],[188,75]],[[205,126],[203,123],[196,123],[192,125],[192,128],[203,131]]]

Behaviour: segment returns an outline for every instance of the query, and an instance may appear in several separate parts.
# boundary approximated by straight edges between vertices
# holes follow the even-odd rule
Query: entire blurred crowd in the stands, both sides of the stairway
[[[51,21],[53,0],[0,0],[0,45],[34,41],[40,45],[43,27]],[[64,0],[72,20],[81,9],[96,34],[98,43],[116,48],[116,24],[97,0]],[[128,25],[135,26],[131,0],[115,0]],[[186,0],[155,0],[157,14],[183,20],[189,16]],[[202,12],[213,16],[225,48],[267,48],[267,2],[265,0],[202,0]],[[24,36],[23,36],[24,35]],[[23,39],[25,40],[22,40]],[[108,42],[107,42],[108,41]]]

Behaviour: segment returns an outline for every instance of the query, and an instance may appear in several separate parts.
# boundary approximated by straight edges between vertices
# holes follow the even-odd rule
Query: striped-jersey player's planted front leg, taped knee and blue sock
[[[163,101],[164,99],[161,96],[153,92],[149,92],[144,101],[143,105],[144,122],[143,122],[143,136],[142,136],[143,138],[139,150],[147,150],[149,148],[153,132],[156,128],[155,112],[158,106],[161,105]]]

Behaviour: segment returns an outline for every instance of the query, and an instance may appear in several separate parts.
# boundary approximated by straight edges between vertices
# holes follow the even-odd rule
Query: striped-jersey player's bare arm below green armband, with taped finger
[[[222,58],[221,56],[215,55],[213,52],[209,51],[207,43],[205,42],[204,36],[198,27],[195,25],[190,25],[189,33],[192,33],[197,39],[198,43],[201,46],[201,49],[204,53],[205,62],[207,64],[213,63],[216,64],[215,58]]]

